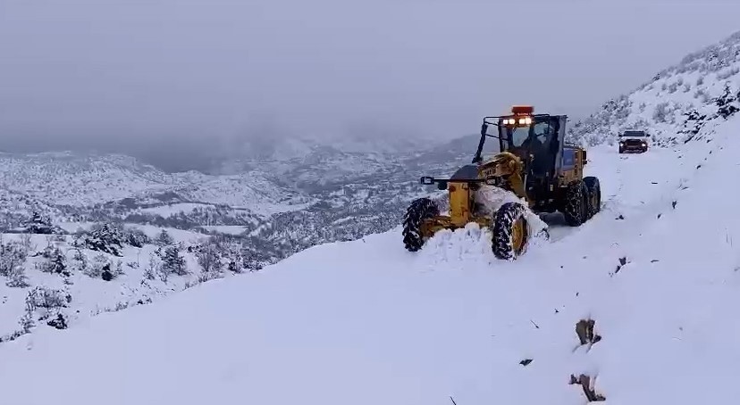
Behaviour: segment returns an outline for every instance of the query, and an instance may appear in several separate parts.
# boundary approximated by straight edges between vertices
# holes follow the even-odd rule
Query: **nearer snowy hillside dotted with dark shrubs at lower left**
[[[75,235],[0,234],[0,344],[252,271],[253,261],[239,241],[178,229],[90,224]]]

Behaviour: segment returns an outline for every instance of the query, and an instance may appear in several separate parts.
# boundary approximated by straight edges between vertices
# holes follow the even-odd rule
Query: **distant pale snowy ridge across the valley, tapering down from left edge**
[[[141,204],[207,202],[248,206],[257,214],[305,207],[310,198],[259,172],[208,176],[168,174],[128,156],[78,153],[0,154],[0,187],[74,207],[131,199]]]

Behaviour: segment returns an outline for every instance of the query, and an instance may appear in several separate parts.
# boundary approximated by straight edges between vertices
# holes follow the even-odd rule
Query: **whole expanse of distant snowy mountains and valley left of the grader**
[[[4,192],[37,203],[0,214],[5,229],[20,226],[31,211],[61,221],[223,229],[289,246],[290,254],[391,227],[408,200],[424,192],[417,179],[450,171],[458,155],[439,146],[385,154],[315,146],[300,158],[248,161],[247,171],[208,175],[164,173],[120,155],[3,154]],[[379,213],[391,213],[389,220],[375,220]],[[278,227],[280,236],[272,231]],[[323,229],[323,235],[307,229]]]

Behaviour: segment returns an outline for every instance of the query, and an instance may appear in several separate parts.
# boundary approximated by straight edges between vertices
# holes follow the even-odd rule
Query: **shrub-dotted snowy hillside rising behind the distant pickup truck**
[[[570,136],[584,145],[613,144],[625,129],[645,129],[660,145],[670,145],[695,136],[712,116],[738,109],[740,32],[686,55],[632,93],[604,103],[576,122]]]

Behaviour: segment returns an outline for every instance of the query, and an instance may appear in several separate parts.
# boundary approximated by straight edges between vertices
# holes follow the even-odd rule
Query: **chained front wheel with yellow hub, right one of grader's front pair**
[[[514,260],[526,251],[529,225],[525,212],[525,206],[517,202],[507,202],[496,212],[492,247],[493,255],[498,259]]]

